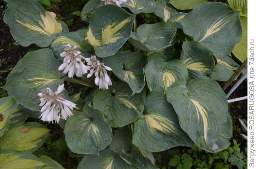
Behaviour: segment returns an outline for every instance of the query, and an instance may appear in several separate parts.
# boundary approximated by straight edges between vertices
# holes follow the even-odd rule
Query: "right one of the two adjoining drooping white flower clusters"
[[[91,70],[90,73],[87,75],[87,78],[91,76],[95,76],[95,84],[99,86],[100,89],[108,89],[108,86],[112,86],[112,82],[110,77],[108,76],[108,71],[112,69],[108,66],[105,66],[104,63],[99,62],[96,56],[91,56],[90,58],[85,58],[87,65],[90,65]]]

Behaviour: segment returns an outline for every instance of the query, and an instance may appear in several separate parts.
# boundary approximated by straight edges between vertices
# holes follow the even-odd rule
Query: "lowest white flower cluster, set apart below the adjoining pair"
[[[45,88],[41,93],[38,93],[41,98],[39,106],[42,106],[40,115],[42,121],[58,123],[60,117],[67,120],[68,117],[73,115],[71,110],[76,107],[76,104],[64,99],[61,95],[58,96],[63,90],[64,84],[60,85],[56,92],[52,92],[50,88]]]

